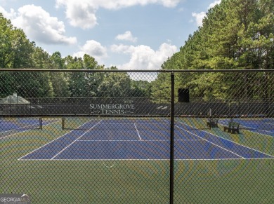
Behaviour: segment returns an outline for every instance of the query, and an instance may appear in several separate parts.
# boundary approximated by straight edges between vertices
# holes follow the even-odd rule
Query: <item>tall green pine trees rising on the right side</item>
[[[162,69],[274,69],[274,1],[221,1],[209,9],[202,27],[190,34]],[[166,78],[158,76],[157,84],[166,86]],[[255,94],[271,82],[263,73],[238,74],[237,78],[227,73],[183,74],[176,81],[177,87],[191,87],[192,97],[236,97],[231,90],[242,83],[242,97],[273,97],[271,88]]]

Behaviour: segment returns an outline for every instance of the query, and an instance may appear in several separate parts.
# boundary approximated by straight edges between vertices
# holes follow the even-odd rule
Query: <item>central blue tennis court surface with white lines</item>
[[[183,122],[174,128],[177,160],[274,158]],[[169,131],[169,121],[163,119],[88,121],[20,160],[167,160]]]

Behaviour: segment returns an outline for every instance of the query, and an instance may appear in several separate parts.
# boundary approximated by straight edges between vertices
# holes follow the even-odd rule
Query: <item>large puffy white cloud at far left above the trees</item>
[[[0,8],[0,11],[3,8]],[[26,5],[18,8],[18,12],[3,12],[6,18],[11,19],[15,27],[20,27],[32,41],[46,44],[75,44],[76,37],[65,36],[65,25],[58,18],[51,17],[40,6]]]

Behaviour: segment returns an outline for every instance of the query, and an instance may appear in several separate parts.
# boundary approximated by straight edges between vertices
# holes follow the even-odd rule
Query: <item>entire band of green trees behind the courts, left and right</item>
[[[223,0],[209,9],[202,27],[161,69],[274,69],[274,1]],[[22,29],[0,13],[0,67],[5,69],[117,69],[98,64],[90,55],[50,55],[27,39]],[[23,74],[23,73],[22,73]],[[168,74],[155,81],[133,79],[126,73],[35,72],[32,76],[0,73],[0,97],[17,91],[23,97],[167,97]],[[24,79],[24,80],[22,80]],[[243,97],[261,97],[255,89],[266,87],[267,74],[176,74],[176,89],[191,88],[191,97],[237,97],[231,88],[244,81]],[[254,86],[254,82],[257,82]],[[222,85],[222,86],[220,86]],[[23,87],[28,87],[25,90]],[[30,91],[31,90],[31,91]],[[273,97],[273,92],[263,92]]]

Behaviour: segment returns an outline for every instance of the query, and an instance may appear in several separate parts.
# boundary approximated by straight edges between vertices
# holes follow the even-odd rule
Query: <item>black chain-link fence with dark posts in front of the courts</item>
[[[273,90],[273,70],[1,69],[0,193],[274,203]]]

